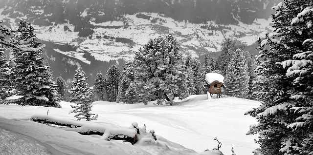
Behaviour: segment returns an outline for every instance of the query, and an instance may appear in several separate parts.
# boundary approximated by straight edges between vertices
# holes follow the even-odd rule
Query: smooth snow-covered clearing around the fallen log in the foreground
[[[252,151],[258,148],[253,140],[257,136],[246,136],[256,119],[244,113],[260,102],[236,97],[207,99],[206,95],[176,101],[174,106],[155,106],[154,102],[93,103],[92,113],[99,117],[88,123],[128,128],[135,121],[139,127],[145,124],[147,131],[156,131],[156,142],[134,146],[36,122],[11,120],[46,115],[47,110],[49,116],[76,120],[73,113],[68,114],[72,103],[61,102],[62,108],[0,105],[0,155],[220,155],[216,151],[203,152],[217,147],[215,137],[223,143],[220,150],[224,155],[231,155],[232,147],[236,155],[253,155]]]

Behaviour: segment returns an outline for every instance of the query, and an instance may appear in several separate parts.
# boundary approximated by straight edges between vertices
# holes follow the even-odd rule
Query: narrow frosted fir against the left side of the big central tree
[[[118,88],[118,101],[121,101],[123,103],[128,103],[125,94],[130,84],[134,81],[133,64],[133,61],[126,61],[123,66],[123,71],[121,73],[121,81]]]

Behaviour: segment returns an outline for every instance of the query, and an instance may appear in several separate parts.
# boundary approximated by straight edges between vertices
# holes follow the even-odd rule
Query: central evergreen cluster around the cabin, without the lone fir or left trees
[[[179,42],[169,34],[150,39],[133,61],[125,63],[121,73],[116,65],[105,77],[98,73],[93,91],[96,100],[145,104],[157,100],[157,105],[172,105],[175,97],[203,94],[205,74],[216,72],[226,77],[228,95],[246,98],[252,97],[254,69],[254,58],[234,40],[225,39],[222,55],[216,60],[205,55],[201,64],[197,58],[183,57]]]

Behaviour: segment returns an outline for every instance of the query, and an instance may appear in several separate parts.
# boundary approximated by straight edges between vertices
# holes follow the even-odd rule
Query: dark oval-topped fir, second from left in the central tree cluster
[[[118,85],[120,79],[120,71],[116,65],[110,66],[105,77],[106,97],[108,101],[116,101],[118,95]]]

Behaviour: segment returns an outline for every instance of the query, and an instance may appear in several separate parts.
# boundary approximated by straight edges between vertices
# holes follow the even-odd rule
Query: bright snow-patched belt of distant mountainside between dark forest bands
[[[143,17],[137,16],[138,14]],[[259,37],[265,36],[264,33],[268,30],[270,23],[270,19],[255,19],[252,24],[244,24],[240,21],[237,25],[216,24],[215,21],[196,24],[188,20],[174,20],[157,13],[138,14],[123,15],[123,19],[119,21],[102,23],[95,23],[95,19],[90,19],[89,24],[94,27],[93,33],[89,34],[92,37],[80,37],[80,32],[74,32],[75,26],[69,22],[53,23],[49,26],[34,24],[34,27],[39,39],[61,44],[68,43],[77,47],[75,51],[77,53],[88,51],[97,60],[108,62],[118,58],[133,59],[134,52],[149,39],[168,33],[174,34],[179,39],[183,53],[191,54],[193,57],[219,51],[226,37],[250,45]],[[1,18],[10,19],[8,15],[1,15]],[[10,19],[8,23],[16,25],[12,21],[14,19]],[[65,27],[68,30],[65,31]],[[75,55],[73,57],[80,58]]]

